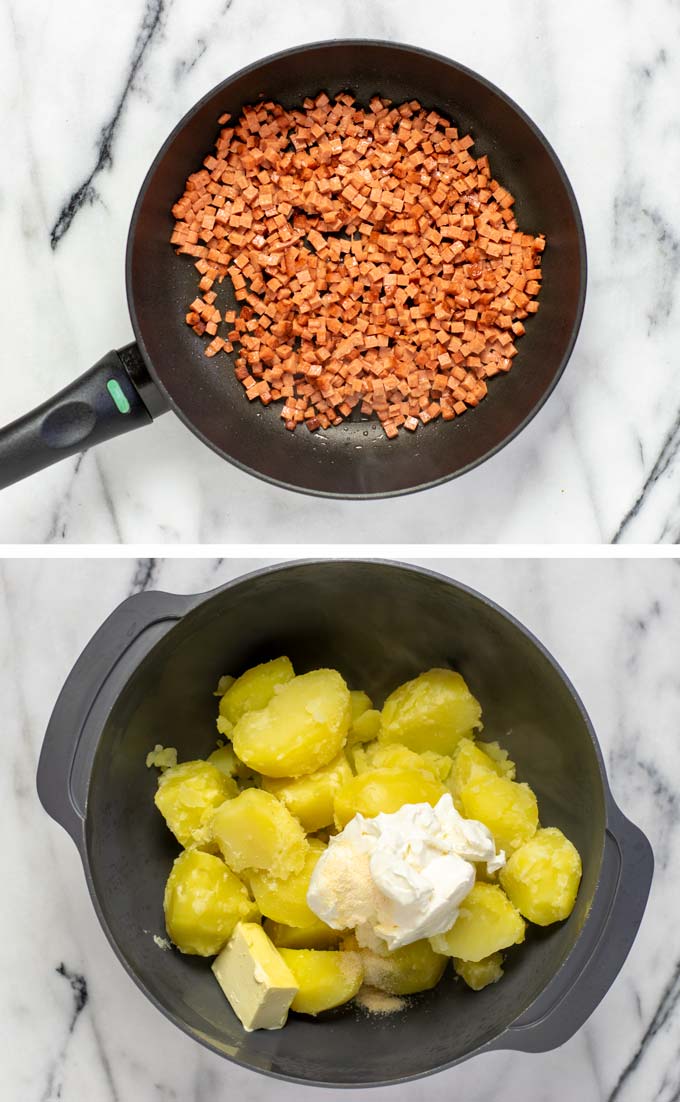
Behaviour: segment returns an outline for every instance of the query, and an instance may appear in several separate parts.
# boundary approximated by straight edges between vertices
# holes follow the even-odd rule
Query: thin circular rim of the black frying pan
[[[495,96],[501,99],[506,104],[506,106],[509,107],[512,111],[515,111],[515,114],[525,122],[525,125],[533,133],[539,143],[543,147],[546,153],[548,154],[552,164],[554,165],[554,169],[561,181],[562,187],[564,188],[564,193],[566,195],[566,199],[571,208],[576,231],[578,251],[579,251],[579,295],[576,302],[576,312],[572,324],[571,333],[569,336],[569,341],[566,342],[564,353],[562,354],[562,358],[552,376],[550,383],[548,385],[548,387],[546,387],[540,399],[532,406],[532,408],[529,410],[526,417],[519,422],[519,424],[517,424],[511,432],[509,432],[506,436],[504,436],[504,439],[500,440],[493,447],[488,449],[486,452],[484,452],[482,455],[478,455],[475,460],[472,460],[469,463],[466,463],[464,466],[458,467],[456,471],[449,472],[447,474],[444,474],[439,478],[430,479],[429,482],[417,483],[412,486],[401,487],[399,489],[389,489],[389,490],[371,490],[368,493],[366,491],[347,493],[341,490],[315,489],[310,486],[301,486],[296,483],[291,483],[287,482],[283,478],[278,478],[274,475],[266,474],[265,472],[259,471],[256,467],[252,467],[249,464],[244,463],[242,461],[237,460],[235,456],[226,453],[224,449],[222,449],[217,443],[211,440],[201,429],[198,429],[194,424],[191,417],[185,412],[183,407],[175,401],[175,399],[170,393],[165,385],[162,382],[158,371],[155,370],[152,357],[145,346],[144,339],[141,334],[141,327],[139,324],[139,318],[137,316],[137,307],[132,291],[132,253],[134,249],[134,239],[137,236],[137,226],[141,215],[141,207],[159,165],[161,164],[162,160],[164,159],[166,152],[169,151],[170,147],[172,145],[175,137],[180,133],[180,131],[182,131],[184,127],[191,121],[191,119],[201,110],[204,104],[208,102],[208,100],[211,100],[217,93],[228,88],[234,82],[240,79],[241,77],[248,75],[249,73],[253,73],[261,66],[269,64],[270,62],[299,56],[300,54],[306,53],[307,51],[311,50],[332,48],[336,46],[350,46],[350,47],[380,46],[384,48],[387,47],[398,53],[413,54],[420,57],[430,58],[432,61],[443,63],[444,65],[447,65],[451,68],[454,68],[457,72],[468,77],[472,77],[478,84],[483,85],[487,90],[492,91]],[[404,497],[409,494],[417,494],[422,490],[434,489],[438,486],[442,486],[445,483],[452,482],[454,478],[460,478],[463,475],[469,474],[476,467],[481,466],[483,463],[486,463],[487,460],[492,460],[494,458],[494,456],[498,455],[498,453],[503,451],[504,447],[510,444],[530,424],[530,422],[535,419],[535,417],[537,417],[537,414],[540,412],[540,410],[543,408],[548,399],[555,390],[560,379],[564,374],[566,365],[571,359],[574,346],[576,344],[576,339],[579,337],[579,332],[581,329],[581,324],[583,321],[583,312],[585,309],[585,298],[587,290],[587,251],[585,244],[585,229],[583,226],[583,219],[581,217],[581,210],[579,208],[574,190],[571,185],[571,182],[569,180],[569,176],[560,158],[552,148],[551,143],[548,141],[542,130],[533,121],[533,119],[529,115],[527,115],[527,112],[519,106],[519,104],[517,104],[510,96],[508,96],[507,93],[505,93],[492,80],[488,80],[486,77],[475,72],[475,69],[472,69],[468,66],[463,65],[461,62],[456,62],[453,58],[446,57],[444,54],[436,53],[432,50],[425,50],[421,46],[414,46],[409,43],[390,42],[387,39],[343,37],[343,39],[323,39],[321,41],[306,42],[300,45],[290,46],[285,50],[277,51],[276,53],[272,54],[267,54],[265,57],[260,57],[257,61],[251,62],[249,65],[245,65],[236,73],[233,73],[224,80],[220,80],[219,84],[216,84],[213,88],[211,88],[207,93],[205,93],[205,95],[203,95],[182,116],[182,118],[177,121],[177,123],[168,134],[161,148],[159,149],[158,153],[155,154],[153,161],[151,162],[151,165],[149,166],[149,170],[142,181],[137,199],[134,202],[134,207],[132,210],[132,217],[130,219],[130,227],[128,230],[128,238],[126,245],[125,276],[126,276],[126,296],[128,303],[128,311],[130,314],[130,321],[132,323],[132,329],[134,332],[134,339],[141,352],[147,370],[149,371],[154,386],[158,388],[160,395],[164,399],[168,408],[171,409],[172,412],[180,418],[182,423],[203,444],[209,447],[211,451],[215,452],[216,455],[219,455],[222,460],[225,460],[227,463],[230,463],[233,466],[238,467],[246,474],[259,478],[261,482],[269,483],[269,485],[271,486],[277,486],[280,489],[290,490],[296,494],[304,494],[309,497],[322,497],[331,500],[369,501],[369,500],[380,500],[386,498]]]

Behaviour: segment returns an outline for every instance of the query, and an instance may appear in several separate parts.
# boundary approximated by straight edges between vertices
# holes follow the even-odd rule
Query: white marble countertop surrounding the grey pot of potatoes
[[[0,564],[0,1099],[2,1102],[354,1100],[236,1068],[145,1001],[114,957],[76,849],[43,812],[35,767],[73,662],[141,587],[199,592],[263,565],[231,560]],[[657,872],[623,972],[587,1025],[542,1056],[494,1054],[370,1099],[671,1102],[680,1092],[678,563],[431,560],[498,601],[552,650],[589,710],[614,797]]]

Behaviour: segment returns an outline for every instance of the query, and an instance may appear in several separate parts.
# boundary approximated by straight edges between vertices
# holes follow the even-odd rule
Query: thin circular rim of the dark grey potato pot
[[[120,693],[125,691],[129,680],[132,677],[134,677],[137,669],[139,668],[140,665],[142,665],[147,660],[149,655],[151,655],[158,647],[162,647],[165,640],[173,634],[173,631],[175,630],[175,628],[180,626],[180,624],[184,624],[186,620],[194,620],[196,617],[201,615],[202,611],[205,609],[205,606],[209,604],[214,598],[219,596],[222,593],[235,590],[237,586],[240,585],[251,585],[252,582],[258,577],[263,577],[274,574],[283,575],[288,571],[298,568],[306,569],[319,565],[346,566],[355,564],[359,568],[377,566],[381,570],[389,569],[391,571],[407,572],[411,574],[417,574],[420,577],[424,577],[429,582],[443,583],[447,587],[450,586],[454,590],[463,592],[466,596],[472,597],[473,601],[477,602],[479,605],[486,608],[490,608],[496,615],[499,615],[504,619],[509,622],[511,627],[515,630],[519,631],[521,635],[524,635],[529,640],[529,642],[538,650],[541,657],[548,662],[548,665],[554,670],[558,678],[566,689],[573,703],[575,704],[576,710],[582,719],[585,731],[587,733],[587,736],[590,738],[590,743],[597,763],[600,782],[602,786],[603,807],[604,807],[604,829],[602,833],[600,853],[597,857],[598,860],[597,879],[593,890],[593,897],[591,900],[589,914],[585,918],[583,926],[581,927],[581,929],[576,934],[573,946],[571,947],[565,958],[558,966],[552,977],[542,988],[542,991],[536,996],[536,998],[529,1004],[529,1006],[525,1007],[525,1009],[520,1012],[519,1017],[521,1017],[524,1014],[527,1013],[528,1009],[530,1009],[530,1007],[536,1003],[536,1001],[540,998],[541,995],[543,995],[549,990],[549,987],[552,986],[558,981],[563,970],[569,968],[570,959],[572,959],[573,953],[576,950],[579,942],[582,940],[586,929],[592,922],[597,921],[597,916],[601,912],[603,906],[602,886],[603,886],[603,868],[605,863],[605,839],[607,831],[609,830],[609,823],[616,814],[617,804],[612,793],[612,789],[609,787],[609,779],[607,776],[605,759],[602,752],[602,747],[600,745],[600,741],[597,738],[597,733],[595,731],[594,723],[573,681],[562,667],[561,662],[555,658],[552,651],[548,649],[547,645],[541,641],[541,639],[532,631],[531,628],[527,627],[526,624],[522,623],[522,620],[520,620],[514,613],[509,612],[504,605],[500,605],[493,597],[487,596],[485,593],[481,592],[479,590],[475,588],[472,585],[468,585],[466,582],[460,581],[457,577],[452,577],[446,574],[442,574],[440,571],[432,570],[429,566],[422,566],[420,564],[404,562],[399,559],[381,559],[371,557],[349,558],[347,555],[338,555],[330,559],[315,557],[306,559],[295,559],[289,562],[270,563],[266,566],[258,568],[257,570],[250,570],[244,574],[239,574],[237,577],[230,579],[228,582],[224,582],[223,584],[214,586],[211,590],[188,595],[191,604],[183,613],[183,615],[176,620],[176,623],[173,624],[170,630],[161,639],[156,640],[156,642],[153,644],[149,652],[141,658],[136,669],[131,671],[131,673],[126,678],[125,683],[120,687],[120,690],[117,691],[116,701],[111,705],[111,711],[116,707],[116,703],[119,699]],[[104,727],[109,722],[109,719],[110,719],[110,712],[101,723],[99,737],[104,731]],[[93,768],[94,768],[94,763],[93,763]],[[91,770],[90,770],[90,779],[91,779]],[[88,787],[89,787],[89,781],[88,781]],[[86,817],[83,821],[82,834],[80,834],[82,843],[78,846],[78,849],[80,853],[80,860],[83,863],[85,878],[87,882],[88,893],[95,912],[97,915],[101,929],[107,938],[107,941],[109,942],[111,949],[114,950],[115,955],[120,961],[122,968],[127,972],[128,976],[132,980],[136,987],[163,1015],[163,1017],[166,1018],[166,1020],[172,1023],[173,1026],[176,1026],[176,1028],[179,1028],[185,1036],[191,1037],[193,1040],[197,1041],[204,1048],[208,1049],[212,1052],[215,1052],[215,1055],[219,1056],[222,1059],[228,1060],[229,1062],[235,1063],[238,1067],[246,1069],[247,1071],[266,1076],[269,1079],[279,1080],[281,1082],[298,1083],[302,1087],[325,1088],[327,1090],[365,1090],[365,1089],[367,1090],[374,1087],[396,1087],[401,1083],[415,1082],[417,1080],[420,1079],[427,1079],[430,1076],[439,1074],[442,1071],[446,1071],[453,1067],[456,1067],[457,1065],[463,1063],[475,1056],[482,1056],[487,1051],[489,1052],[494,1051],[497,1048],[501,1048],[501,1046],[499,1046],[498,1042],[501,1040],[503,1037],[506,1036],[508,1030],[512,1028],[512,1023],[510,1023],[509,1026],[501,1028],[497,1034],[495,1034],[489,1039],[482,1041],[481,1045],[472,1049],[469,1052],[465,1052],[464,1055],[458,1056],[453,1060],[445,1060],[444,1062],[439,1063],[435,1067],[427,1068],[425,1070],[421,1071],[414,1071],[408,1076],[400,1076],[380,1080],[378,1079],[363,1080],[360,1082],[352,1082],[352,1083],[346,1081],[337,1082],[330,1079],[320,1080],[313,1077],[302,1078],[299,1076],[289,1074],[287,1072],[276,1070],[273,1068],[256,1067],[252,1063],[248,1063],[247,1061],[242,1060],[238,1056],[233,1056],[231,1054],[227,1054],[218,1045],[214,1044],[209,1037],[207,1037],[201,1030],[192,1027],[188,1023],[179,1017],[179,1015],[175,1014],[174,1011],[171,1011],[168,1006],[165,1006],[160,998],[158,998],[154,994],[152,994],[149,987],[144,984],[143,980],[132,969],[121,946],[119,944],[118,940],[116,939],[108,923],[107,916],[105,914],[104,907],[101,905],[101,901],[99,899],[99,896],[95,887],[95,877],[93,875],[93,865],[90,862],[88,819],[89,819],[89,806],[86,808]]]

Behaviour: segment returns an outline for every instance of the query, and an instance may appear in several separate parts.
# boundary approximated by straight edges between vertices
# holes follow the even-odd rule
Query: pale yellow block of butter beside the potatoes
[[[213,961],[213,972],[248,1033],[285,1025],[298,984],[257,922],[239,922]]]

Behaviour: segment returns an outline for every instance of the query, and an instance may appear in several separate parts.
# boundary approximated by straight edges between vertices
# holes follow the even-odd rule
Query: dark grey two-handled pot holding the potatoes
[[[247,1034],[205,960],[156,948],[176,844],[144,756],[156,742],[180,759],[207,754],[219,676],[280,653],[299,672],[337,667],[377,702],[433,666],[460,670],[481,699],[485,738],[503,741],[543,824],[560,827],[583,858],[572,915],[530,927],[499,984],[474,994],[449,971],[398,1015],[293,1015],[282,1030]],[[111,946],[159,1009],[244,1067],[324,1087],[400,1082],[482,1051],[562,1044],[620,970],[652,874],[649,843],[614,803],[592,724],[554,659],[478,593],[397,563],[298,562],[208,594],[129,598],[62,690],[37,790],[78,846]]]

